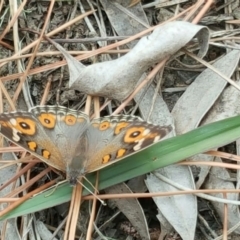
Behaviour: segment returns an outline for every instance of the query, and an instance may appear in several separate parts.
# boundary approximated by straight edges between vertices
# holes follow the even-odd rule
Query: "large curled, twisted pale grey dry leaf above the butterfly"
[[[208,29],[176,21],[156,28],[126,55],[88,67],[75,60],[60,45],[54,45],[68,62],[71,89],[122,101],[133,91],[142,74],[150,66],[176,53],[194,36],[199,39],[199,56],[202,57],[207,50]]]

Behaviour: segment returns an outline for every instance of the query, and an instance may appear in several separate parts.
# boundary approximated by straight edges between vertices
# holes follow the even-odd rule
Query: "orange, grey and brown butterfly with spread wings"
[[[67,173],[71,185],[127,155],[158,142],[172,130],[130,115],[90,120],[63,106],[36,106],[0,114],[0,133],[48,165]]]

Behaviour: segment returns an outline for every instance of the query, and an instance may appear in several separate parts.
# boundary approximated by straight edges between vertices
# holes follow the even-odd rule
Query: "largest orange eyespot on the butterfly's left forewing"
[[[36,124],[33,120],[29,118],[11,118],[9,122],[14,126],[14,128],[26,135],[34,135],[36,133]]]

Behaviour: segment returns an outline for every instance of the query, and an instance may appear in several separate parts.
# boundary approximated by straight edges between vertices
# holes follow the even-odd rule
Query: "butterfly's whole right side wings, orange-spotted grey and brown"
[[[85,150],[81,155],[79,175],[99,170],[158,142],[170,131],[170,126],[155,126],[132,116],[94,119],[85,132],[85,142],[81,144]]]

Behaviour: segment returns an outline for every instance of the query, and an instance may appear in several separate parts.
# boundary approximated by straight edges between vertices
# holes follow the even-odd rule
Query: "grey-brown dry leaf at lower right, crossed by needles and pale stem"
[[[215,161],[222,162],[220,158],[215,158]],[[228,171],[222,167],[213,167],[211,168],[210,174],[207,178],[207,181],[205,181],[203,187],[206,189],[235,189],[234,184],[229,181],[230,175]],[[210,195],[218,198],[225,198],[225,196],[222,193],[214,193]],[[228,193],[227,194],[228,200],[238,200],[238,195],[235,193]],[[215,210],[219,214],[221,220],[224,220],[224,204],[219,202],[212,202],[212,205],[214,206]],[[233,204],[227,204],[228,208],[228,229],[232,228],[236,224],[239,223],[240,219],[240,213],[239,213],[239,206],[233,205]],[[238,227],[235,231],[235,233],[240,234],[240,227]]]

